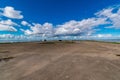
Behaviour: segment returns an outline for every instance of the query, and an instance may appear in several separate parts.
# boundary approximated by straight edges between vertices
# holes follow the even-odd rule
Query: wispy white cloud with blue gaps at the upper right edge
[[[112,25],[110,28],[120,29],[120,8],[112,7],[103,9],[97,12],[96,15],[99,17],[107,18],[107,20],[110,22],[109,24]]]

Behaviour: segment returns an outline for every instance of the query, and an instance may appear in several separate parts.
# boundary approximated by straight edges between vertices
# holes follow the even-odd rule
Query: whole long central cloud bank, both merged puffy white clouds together
[[[21,31],[26,35],[42,35],[44,37],[91,35],[96,31],[97,26],[106,23],[106,18],[88,18],[82,21],[72,20],[56,26],[51,23],[34,24],[30,29],[21,29]]]

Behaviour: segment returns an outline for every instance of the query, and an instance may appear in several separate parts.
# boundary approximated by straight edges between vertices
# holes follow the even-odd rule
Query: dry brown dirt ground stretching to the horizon
[[[0,80],[120,80],[120,44],[0,44]]]

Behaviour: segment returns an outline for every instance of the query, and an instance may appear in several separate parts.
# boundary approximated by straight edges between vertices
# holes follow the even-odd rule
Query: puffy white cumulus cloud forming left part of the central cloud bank
[[[21,29],[26,35],[42,35],[42,36],[52,36],[53,35],[53,25],[51,23],[41,24],[34,24],[30,27],[30,29],[23,30]]]

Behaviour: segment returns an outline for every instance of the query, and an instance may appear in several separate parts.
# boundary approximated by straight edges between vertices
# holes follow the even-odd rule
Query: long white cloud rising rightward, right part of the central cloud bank
[[[63,25],[58,25],[55,35],[91,35],[94,28],[106,24],[105,18],[89,18],[82,21],[69,21]]]

